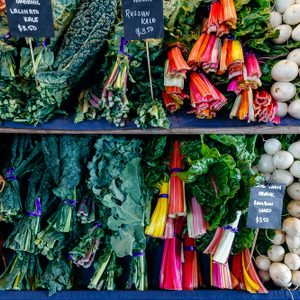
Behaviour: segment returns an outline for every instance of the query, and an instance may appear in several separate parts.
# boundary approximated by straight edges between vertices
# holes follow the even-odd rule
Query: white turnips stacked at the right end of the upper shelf
[[[274,29],[279,30],[279,37],[273,39],[273,42],[285,44],[289,39],[300,42],[300,0],[277,0],[274,8],[275,11],[270,14],[270,23]],[[296,97],[296,86],[292,83],[299,76],[299,66],[300,48],[297,48],[272,68],[271,75],[276,82],[271,88],[271,95],[278,102],[279,117],[289,114],[300,119],[300,100]]]

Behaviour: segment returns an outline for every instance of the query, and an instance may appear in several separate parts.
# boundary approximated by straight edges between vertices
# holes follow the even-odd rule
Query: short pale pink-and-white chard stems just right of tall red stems
[[[204,220],[202,207],[195,197],[191,200],[191,209],[187,213],[187,229],[190,238],[199,238],[206,233],[207,222]]]

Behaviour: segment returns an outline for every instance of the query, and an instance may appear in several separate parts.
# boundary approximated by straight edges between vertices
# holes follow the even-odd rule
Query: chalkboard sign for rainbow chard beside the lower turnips
[[[247,227],[280,229],[285,185],[272,183],[251,189]]]

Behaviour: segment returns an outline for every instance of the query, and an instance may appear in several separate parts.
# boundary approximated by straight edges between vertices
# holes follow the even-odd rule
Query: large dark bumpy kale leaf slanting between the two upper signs
[[[79,83],[99,54],[116,17],[116,0],[82,2],[62,46],[54,68],[67,71],[72,83]]]

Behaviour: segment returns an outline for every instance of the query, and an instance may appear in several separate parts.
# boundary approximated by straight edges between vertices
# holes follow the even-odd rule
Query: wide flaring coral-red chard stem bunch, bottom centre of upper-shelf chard
[[[227,99],[202,73],[192,72],[190,76],[191,105],[197,118],[214,118]]]

